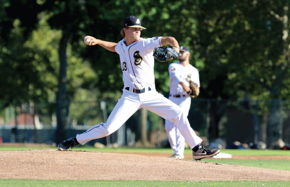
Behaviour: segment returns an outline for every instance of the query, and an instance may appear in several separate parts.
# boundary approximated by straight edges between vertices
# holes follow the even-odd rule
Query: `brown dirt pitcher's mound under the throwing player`
[[[290,171],[87,151],[0,151],[0,178],[49,180],[290,180]]]

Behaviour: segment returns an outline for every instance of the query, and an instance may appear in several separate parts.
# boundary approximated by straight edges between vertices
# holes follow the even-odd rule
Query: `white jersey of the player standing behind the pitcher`
[[[171,95],[187,94],[186,91],[183,91],[183,88],[179,82],[184,82],[187,86],[189,86],[189,82],[186,80],[188,77],[190,77],[190,80],[196,83],[198,87],[200,87],[199,72],[191,64],[188,64],[186,67],[184,67],[182,64],[180,64],[180,62],[175,62],[169,65],[168,71],[170,77]]]

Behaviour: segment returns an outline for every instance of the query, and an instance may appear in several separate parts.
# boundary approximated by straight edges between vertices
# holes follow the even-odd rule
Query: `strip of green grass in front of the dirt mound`
[[[0,186],[84,186],[84,187],[249,187],[249,186],[274,186],[274,187],[289,187],[289,181],[147,181],[147,180],[19,180],[19,179],[0,179]]]

